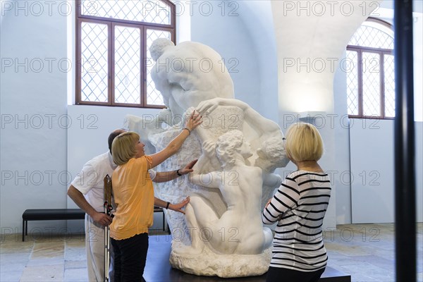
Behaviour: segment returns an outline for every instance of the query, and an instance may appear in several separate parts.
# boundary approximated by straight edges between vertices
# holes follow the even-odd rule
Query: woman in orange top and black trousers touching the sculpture
[[[115,138],[111,153],[118,167],[111,181],[116,213],[110,225],[115,282],[145,281],[142,274],[147,258],[148,228],[153,223],[154,205],[185,213],[182,208],[188,204],[189,198],[178,204],[171,204],[154,197],[148,170],[175,154],[185,138],[200,123],[200,114],[192,112],[179,135],[166,148],[149,156],[145,155],[145,145],[140,142],[140,135],[137,133],[125,132]],[[176,173],[182,175],[179,170]]]

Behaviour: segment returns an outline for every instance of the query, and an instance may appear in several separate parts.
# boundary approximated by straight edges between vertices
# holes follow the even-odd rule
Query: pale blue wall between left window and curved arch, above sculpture
[[[194,1],[191,40],[212,47],[224,59],[235,89],[235,98],[259,111],[260,75],[254,40],[245,27],[243,6],[237,1]]]

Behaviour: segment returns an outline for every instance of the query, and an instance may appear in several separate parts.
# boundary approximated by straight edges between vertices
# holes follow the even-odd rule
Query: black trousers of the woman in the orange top
[[[142,233],[128,239],[114,240],[114,282],[140,282],[147,260],[148,234]]]

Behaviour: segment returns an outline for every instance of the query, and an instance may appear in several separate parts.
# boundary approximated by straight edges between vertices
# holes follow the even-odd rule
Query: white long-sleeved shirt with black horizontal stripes
[[[330,197],[326,173],[294,171],[283,180],[262,214],[265,224],[278,221],[270,266],[297,271],[326,266],[321,226]]]

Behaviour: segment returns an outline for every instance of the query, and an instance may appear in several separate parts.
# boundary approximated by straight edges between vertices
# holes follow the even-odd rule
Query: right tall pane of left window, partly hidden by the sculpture
[[[154,60],[149,52],[149,47],[157,38],[166,38],[171,40],[171,32],[164,30],[147,30],[147,104],[149,105],[164,105],[163,97],[160,92],[156,89],[154,81],[152,80],[152,67],[154,66]]]

